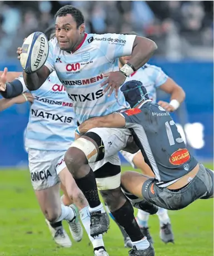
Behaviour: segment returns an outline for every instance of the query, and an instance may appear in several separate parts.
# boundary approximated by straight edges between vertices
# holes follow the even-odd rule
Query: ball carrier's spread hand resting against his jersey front
[[[104,82],[101,83],[101,87],[103,87],[104,85],[107,85],[108,83],[108,85],[106,86],[106,88],[104,88],[102,93],[103,94],[106,93],[108,89],[111,87],[110,91],[108,92],[108,97],[111,96],[113,90],[115,89],[116,98],[117,98],[118,90],[120,86],[125,82],[126,76],[123,75],[120,71],[109,72],[102,75],[103,77],[108,77]]]

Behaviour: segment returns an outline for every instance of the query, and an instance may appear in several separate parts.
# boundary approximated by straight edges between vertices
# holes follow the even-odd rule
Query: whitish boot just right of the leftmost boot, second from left
[[[72,221],[68,221],[69,230],[71,232],[73,240],[76,242],[80,242],[83,237],[83,229],[79,219],[79,212],[77,207],[74,204],[69,205],[69,207],[71,207],[75,213],[74,219]]]

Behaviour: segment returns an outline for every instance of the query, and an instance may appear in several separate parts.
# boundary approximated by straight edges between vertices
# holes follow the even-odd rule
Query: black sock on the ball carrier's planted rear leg
[[[135,220],[134,210],[130,201],[127,200],[120,209],[111,213],[117,223],[125,229],[132,242],[140,241],[143,238],[143,234]]]

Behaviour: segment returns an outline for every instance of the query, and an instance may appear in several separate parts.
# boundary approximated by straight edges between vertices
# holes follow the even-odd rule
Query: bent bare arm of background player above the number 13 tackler
[[[171,95],[171,100],[177,100],[180,104],[185,100],[185,92],[181,86],[170,77],[160,86],[161,90]]]

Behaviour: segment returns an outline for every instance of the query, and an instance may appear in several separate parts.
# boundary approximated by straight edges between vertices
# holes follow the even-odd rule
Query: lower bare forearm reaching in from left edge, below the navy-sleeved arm
[[[12,99],[1,99],[0,111],[8,109],[8,107],[11,107],[13,104],[22,104],[26,101],[33,103],[33,95],[31,93],[26,92]]]

